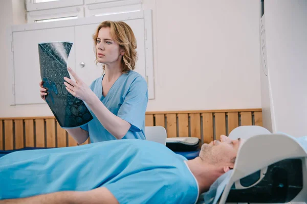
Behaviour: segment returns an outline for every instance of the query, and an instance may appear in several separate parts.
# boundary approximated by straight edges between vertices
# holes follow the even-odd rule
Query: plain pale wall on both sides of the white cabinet
[[[2,28],[12,23],[8,2],[0,8]],[[143,8],[153,10],[155,99],[147,111],[261,107],[259,1],[144,0]],[[6,46],[3,31],[0,41]],[[9,105],[5,65],[0,117],[52,115],[47,105]]]

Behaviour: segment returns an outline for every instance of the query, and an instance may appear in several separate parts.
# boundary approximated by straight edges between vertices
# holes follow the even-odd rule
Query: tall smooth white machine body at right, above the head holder
[[[307,135],[307,2],[265,4],[265,29],[272,131]],[[262,73],[263,74],[263,73]],[[268,98],[267,98],[268,99]],[[268,125],[266,117],[264,124]]]

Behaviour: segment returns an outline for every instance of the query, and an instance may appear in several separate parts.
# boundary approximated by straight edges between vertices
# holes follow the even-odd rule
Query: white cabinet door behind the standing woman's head
[[[110,17],[108,20],[112,20],[112,18]],[[146,79],[144,19],[124,20],[124,22],[131,27],[137,39],[138,61],[135,71]],[[87,85],[99,78],[103,71],[102,65],[95,63],[95,46],[92,38],[98,25],[99,23],[94,23],[76,25],[75,27],[76,71]],[[81,67],[80,63],[84,63],[84,67]]]

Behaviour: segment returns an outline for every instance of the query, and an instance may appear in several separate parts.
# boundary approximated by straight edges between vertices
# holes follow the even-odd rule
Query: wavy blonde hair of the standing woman
[[[138,60],[137,57],[137,40],[129,25],[123,21],[103,21],[98,25],[98,28],[93,35],[93,40],[95,44],[95,56],[96,56],[96,64],[98,63],[97,60],[97,37],[98,33],[101,28],[110,28],[111,30],[111,37],[113,40],[119,44],[120,48],[124,49],[124,55],[122,58],[122,64],[124,65],[122,68],[123,73],[127,73],[130,70],[135,69],[136,61]],[[102,66],[104,70],[104,65]]]

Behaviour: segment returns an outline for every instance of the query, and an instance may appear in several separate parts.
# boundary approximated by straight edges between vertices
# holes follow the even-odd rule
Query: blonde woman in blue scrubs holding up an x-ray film
[[[79,144],[116,139],[145,139],[145,111],[148,89],[145,79],[134,71],[137,60],[136,38],[125,22],[104,21],[95,34],[96,63],[104,74],[90,87],[70,68],[74,80],[64,78],[66,89],[81,99],[94,117],[89,123],[65,129]],[[40,96],[46,89],[40,82]]]

